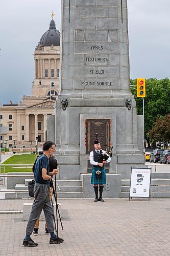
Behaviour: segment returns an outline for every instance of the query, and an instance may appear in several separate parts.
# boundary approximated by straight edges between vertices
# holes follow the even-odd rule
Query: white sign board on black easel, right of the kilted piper
[[[131,168],[130,197],[151,196],[151,168]]]

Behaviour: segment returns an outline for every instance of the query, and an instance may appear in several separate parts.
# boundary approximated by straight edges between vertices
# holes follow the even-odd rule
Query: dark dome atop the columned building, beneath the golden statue
[[[50,28],[41,36],[41,46],[60,46],[60,32],[56,29],[54,20],[51,20]]]

